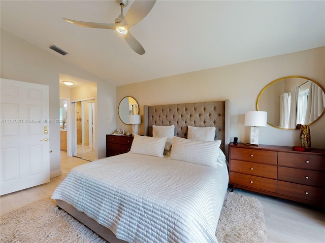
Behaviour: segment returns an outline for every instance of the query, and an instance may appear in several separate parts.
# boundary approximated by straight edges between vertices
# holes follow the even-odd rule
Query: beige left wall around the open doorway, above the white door
[[[70,54],[68,54],[70,55]],[[71,54],[73,55],[73,54]],[[59,74],[97,83],[98,156],[106,156],[106,134],[116,129],[115,86],[1,29],[1,77],[49,86],[50,119],[59,118]],[[67,97],[65,97],[67,98]],[[59,124],[50,124],[51,177],[61,174]]]

